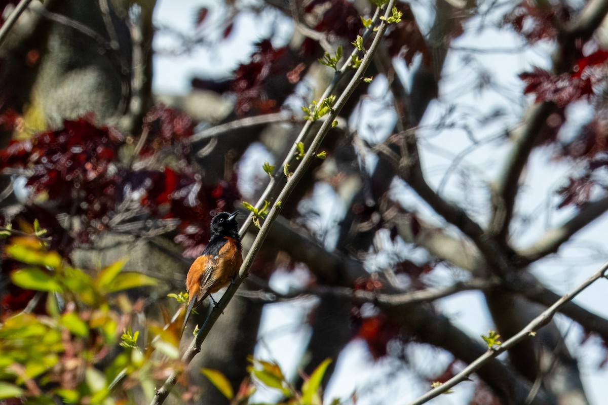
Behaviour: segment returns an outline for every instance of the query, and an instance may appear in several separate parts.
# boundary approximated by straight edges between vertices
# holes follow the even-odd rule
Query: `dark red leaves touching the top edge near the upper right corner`
[[[533,0],[524,0],[511,13],[505,16],[505,24],[513,27],[528,42],[536,43],[542,39],[555,39],[558,26],[570,21],[573,10],[565,2],[550,3],[545,7]]]

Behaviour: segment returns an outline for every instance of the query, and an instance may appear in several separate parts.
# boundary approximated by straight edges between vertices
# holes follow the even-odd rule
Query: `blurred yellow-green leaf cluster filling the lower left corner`
[[[10,274],[11,281],[39,291],[33,300],[44,311],[15,313],[0,324],[0,400],[21,397],[27,403],[55,404],[60,398],[64,403],[114,404],[120,399],[133,403],[134,398],[128,398],[131,394],[110,390],[121,373],[151,399],[156,386],[151,370],[161,363],[150,361],[150,349],[142,352],[137,348],[139,331],[128,328],[121,336],[123,327],[119,325],[136,311],[124,291],[154,285],[157,280],[124,271],[122,260],[96,272],[72,267],[49,250],[42,240],[46,231],[36,223],[32,229],[31,234],[11,232],[5,256],[17,267]],[[149,325],[152,332],[154,325]],[[176,346],[176,340],[171,345]],[[167,344],[164,339],[158,341]],[[118,344],[125,348],[123,352],[116,352]]]

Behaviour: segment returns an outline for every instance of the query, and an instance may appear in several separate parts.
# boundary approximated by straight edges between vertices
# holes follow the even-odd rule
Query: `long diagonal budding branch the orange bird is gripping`
[[[387,11],[385,12],[385,18],[389,18],[394,3],[395,0],[389,1],[389,4],[387,5],[386,9]],[[302,176],[304,175],[308,166],[313,162],[314,159],[317,158],[317,149],[319,148],[321,141],[325,137],[325,134],[330,130],[331,124],[339,114],[345,102],[353,93],[356,86],[358,86],[358,84],[363,80],[365,70],[367,70],[367,67],[371,63],[373,54],[378,48],[378,44],[380,43],[387,26],[388,23],[386,22],[386,20],[380,22],[378,31],[376,32],[376,35],[373,39],[373,43],[371,44],[370,49],[365,53],[363,61],[361,62],[361,66],[359,66],[359,68],[356,70],[353,78],[351,78],[350,82],[348,83],[348,86],[345,88],[342,95],[340,95],[339,99],[336,101],[333,108],[330,110],[328,117],[326,117],[326,120],[323,122],[321,128],[319,129],[319,132],[317,132],[316,137],[314,138],[311,145],[308,147],[306,154],[302,158],[302,163],[300,163],[298,168],[295,169],[295,172],[287,180],[285,187],[278,195],[277,203],[272,204],[272,209],[268,213],[268,216],[266,216],[266,219],[264,220],[264,223],[261,226],[260,232],[255,237],[254,243],[252,244],[249,253],[247,253],[247,256],[243,260],[243,265],[241,266],[237,281],[235,281],[234,284],[230,285],[227,288],[226,293],[224,293],[224,296],[218,302],[218,305],[213,308],[209,317],[206,319],[199,332],[197,333],[195,339],[193,339],[193,341],[188,346],[188,349],[182,356],[182,361],[185,364],[189,364],[190,361],[192,361],[192,359],[194,358],[194,356],[196,356],[196,354],[201,351],[202,342],[209,334],[211,328],[213,327],[213,324],[215,324],[215,321],[219,318],[224,308],[226,308],[226,305],[228,304],[230,299],[232,299],[232,296],[237,291],[239,285],[244,281],[244,279],[246,279],[247,274],[249,273],[249,268],[253,264],[255,256],[257,256],[257,253],[260,250],[262,243],[266,239],[266,236],[268,236],[270,226],[280,213],[281,205],[285,203],[286,200],[289,198],[289,195],[291,194],[299,180],[302,179]],[[295,148],[296,145],[294,144],[294,151]],[[288,156],[288,158],[291,157]],[[249,222],[250,219],[248,219],[246,225],[241,228],[241,235],[243,235],[244,231],[246,231],[247,223]],[[152,405],[164,403],[171,389],[173,389],[178,379],[178,376],[181,375],[181,372],[181,370],[178,370],[167,378],[162,387],[156,391],[156,395],[154,395],[154,398],[151,402]]]

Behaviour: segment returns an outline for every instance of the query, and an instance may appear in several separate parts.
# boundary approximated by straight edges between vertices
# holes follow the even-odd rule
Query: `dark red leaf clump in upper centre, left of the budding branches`
[[[271,41],[264,39],[257,44],[250,63],[238,67],[232,83],[232,90],[237,94],[237,115],[278,111],[277,102],[269,98],[264,84],[272,75],[286,77],[289,70],[295,67],[295,61],[285,56],[288,56],[285,47],[274,49]]]

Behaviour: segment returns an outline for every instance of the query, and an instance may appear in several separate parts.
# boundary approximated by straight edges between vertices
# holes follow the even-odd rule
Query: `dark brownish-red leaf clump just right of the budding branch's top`
[[[386,36],[389,41],[389,55],[401,56],[406,65],[412,64],[413,58],[417,53],[421,53],[423,63],[430,67],[432,65],[432,56],[427,47],[424,35],[416,23],[416,18],[412,13],[409,5],[402,5],[401,22],[392,24],[389,35]]]

